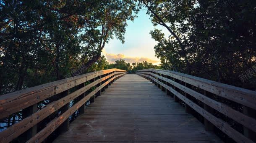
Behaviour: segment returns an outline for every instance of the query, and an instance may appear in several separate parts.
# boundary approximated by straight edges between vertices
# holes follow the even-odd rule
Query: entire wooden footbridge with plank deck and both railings
[[[0,118],[22,120],[0,142],[253,143],[255,109],[255,91],[167,70],[102,70],[1,95]]]

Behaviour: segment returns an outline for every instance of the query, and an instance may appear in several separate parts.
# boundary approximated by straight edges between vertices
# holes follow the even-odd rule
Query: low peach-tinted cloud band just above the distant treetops
[[[105,52],[103,53],[106,56],[109,63],[115,63],[115,61],[119,59],[124,59],[125,62],[127,63],[135,63],[135,62],[137,63],[137,62],[147,61],[149,63],[156,64],[160,62],[159,60],[152,60],[146,57],[128,57],[128,56],[125,56],[124,54],[109,54]]]

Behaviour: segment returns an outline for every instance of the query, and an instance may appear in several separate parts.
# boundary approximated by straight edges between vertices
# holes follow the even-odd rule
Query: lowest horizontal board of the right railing
[[[152,78],[152,80],[157,82],[157,80],[154,79],[154,78]],[[163,83],[160,83],[160,82],[158,82],[158,83],[161,84],[162,86],[164,86],[165,88],[169,89],[173,94],[178,96],[180,98],[180,100],[183,100],[183,102],[185,102],[191,108],[196,110],[197,113],[201,114],[204,118],[209,120],[212,124],[214,124],[217,128],[222,130],[222,132],[227,134],[230,138],[232,138],[236,142],[238,142],[238,143],[253,143],[252,140],[246,138],[244,135],[242,135],[241,133],[239,133],[238,131],[233,129],[228,123],[224,122],[223,120],[221,120],[221,119],[215,117],[214,115],[212,115],[211,113],[207,112],[206,110],[201,108],[196,103],[193,103],[191,100],[189,100],[188,98],[186,98],[182,94],[178,93],[176,90],[173,90],[171,87],[169,87],[169,86],[167,86]]]

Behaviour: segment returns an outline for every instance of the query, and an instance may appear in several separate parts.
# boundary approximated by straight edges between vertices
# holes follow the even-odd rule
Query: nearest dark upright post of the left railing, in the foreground
[[[37,112],[37,104],[31,105],[28,108],[25,108],[22,110],[22,118],[24,119],[36,112]],[[36,134],[37,134],[37,125],[34,125],[32,128],[24,132],[22,136],[24,137],[24,140],[29,140]]]

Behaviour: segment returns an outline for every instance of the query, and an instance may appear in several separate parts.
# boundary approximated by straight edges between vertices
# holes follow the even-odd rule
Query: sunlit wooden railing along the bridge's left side
[[[101,91],[125,73],[125,70],[119,69],[101,70],[0,95],[1,119],[17,112],[22,112],[23,116],[18,123],[0,132],[0,143],[8,143],[22,135],[26,137],[22,138],[24,142],[40,143],[57,128],[68,130],[70,115],[76,111],[84,113],[86,101],[94,102],[95,95],[99,96]],[[86,93],[89,90],[91,92]],[[44,100],[52,102],[38,110],[38,103]],[[71,106],[71,100],[77,102]],[[37,133],[37,124],[56,112],[60,115]]]

